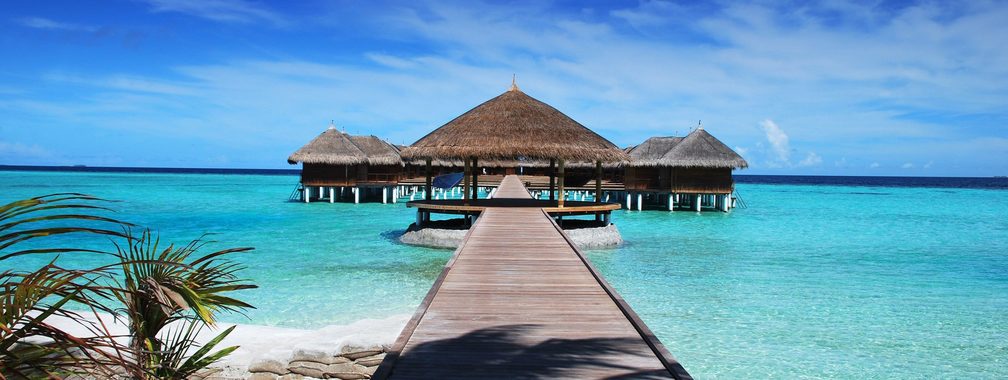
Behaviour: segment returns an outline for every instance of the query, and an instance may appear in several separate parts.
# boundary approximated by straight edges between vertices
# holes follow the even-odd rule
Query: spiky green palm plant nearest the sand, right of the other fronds
[[[229,347],[209,354],[234,328],[228,329],[186,357],[197,334],[214,326],[220,311],[241,311],[252,305],[227,293],[256,286],[235,274],[242,267],[227,255],[252,248],[232,248],[200,254],[206,241],[161,249],[159,240],[145,230],[136,236],[127,231],[129,244],[116,246],[122,279],[115,296],[129,320],[131,347],[137,361],[155,378],[180,379],[230,354]]]

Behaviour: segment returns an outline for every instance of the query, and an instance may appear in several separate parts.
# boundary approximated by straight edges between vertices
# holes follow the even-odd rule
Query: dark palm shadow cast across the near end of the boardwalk
[[[391,378],[597,378],[598,371],[620,373],[606,379],[670,378],[665,370],[640,369],[621,360],[640,354],[639,339],[553,338],[534,344],[523,342],[537,329],[538,325],[504,325],[422,343],[398,359]]]

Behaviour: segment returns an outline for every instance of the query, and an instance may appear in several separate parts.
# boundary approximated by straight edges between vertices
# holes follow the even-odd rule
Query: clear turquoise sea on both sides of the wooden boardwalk
[[[402,203],[287,202],[296,182],[0,171],[0,203],[86,193],[162,240],[212,232],[218,248],[255,247],[236,258],[260,286],[243,294],[257,308],[229,322],[412,313],[452,251],[396,243],[414,218]],[[800,182],[739,183],[749,207],[729,214],[617,212],[626,245],[588,254],[700,379],[1008,378],[1008,189]]]

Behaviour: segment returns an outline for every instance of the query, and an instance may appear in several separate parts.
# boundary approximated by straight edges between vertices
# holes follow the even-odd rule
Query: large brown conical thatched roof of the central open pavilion
[[[517,86],[423,136],[402,157],[625,161],[626,153]]]

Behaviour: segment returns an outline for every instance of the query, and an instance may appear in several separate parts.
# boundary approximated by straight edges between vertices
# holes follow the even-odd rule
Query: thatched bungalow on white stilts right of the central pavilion
[[[742,156],[703,127],[685,137],[651,137],[630,149],[624,186],[627,208],[636,196],[637,210],[644,196],[664,199],[668,210],[733,207],[732,170],[748,167]]]

